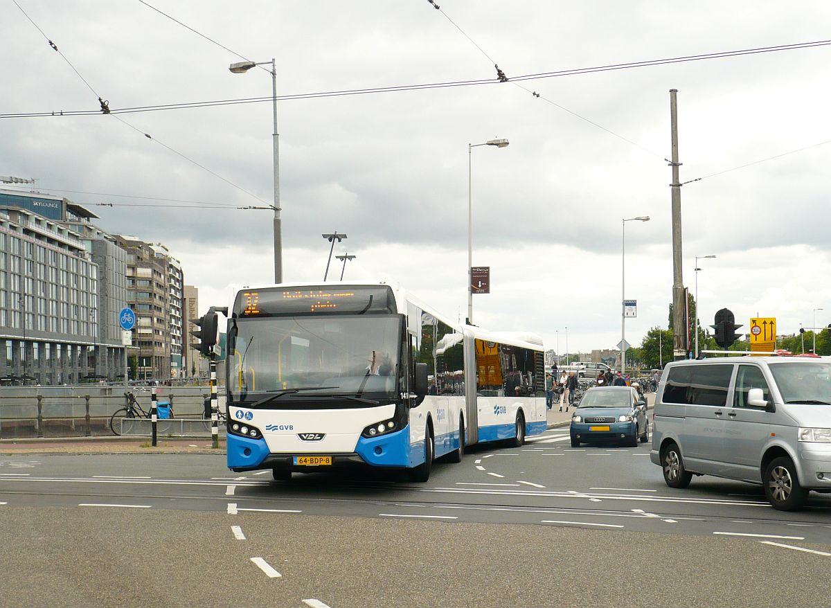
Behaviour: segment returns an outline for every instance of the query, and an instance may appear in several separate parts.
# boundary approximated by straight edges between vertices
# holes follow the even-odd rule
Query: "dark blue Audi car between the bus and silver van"
[[[597,386],[586,391],[571,422],[572,447],[607,441],[637,447],[649,441],[647,402],[630,386]]]

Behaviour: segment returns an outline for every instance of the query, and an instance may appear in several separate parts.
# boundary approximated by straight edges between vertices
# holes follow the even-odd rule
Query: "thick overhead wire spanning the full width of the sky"
[[[578,76],[581,74],[593,74],[603,71],[617,71],[627,70],[640,67],[662,66],[671,63],[681,63],[689,61],[709,61],[712,59],[721,59],[731,56],[743,56],[755,53],[776,52],[776,51],[793,51],[812,47],[827,47],[831,45],[831,40],[817,41],[817,42],[801,42],[797,44],[779,45],[776,47],[760,47],[754,49],[744,49],[740,51],[724,51],[719,53],[708,53],[704,55],[690,55],[681,57],[669,57],[665,59],[655,59],[650,61],[634,61],[630,63],[618,63],[605,66],[594,66],[585,68],[574,68],[568,70],[540,72],[537,74],[525,74],[520,76],[511,76],[509,81],[531,81],[544,80],[548,78],[558,78],[562,76]],[[485,54],[485,56],[488,56]],[[318,91],[313,93],[296,93],[289,95],[277,96],[278,101],[299,101],[307,99],[319,99],[326,97],[340,97],[353,95],[374,95],[378,93],[391,93],[402,91],[423,91],[430,89],[453,88],[460,86],[482,86],[482,85],[496,85],[501,84],[499,78],[487,78],[469,81],[446,81],[425,83],[420,85],[396,85],[396,86],[379,86],[368,87],[364,89],[345,89],[338,91]],[[238,105],[248,103],[262,103],[271,102],[273,97],[246,97],[230,100],[216,100],[216,101],[192,101],[177,104],[160,104],[160,105],[140,105],[127,108],[110,108],[111,114],[128,114],[138,112],[162,111],[162,110],[187,110],[201,107],[215,107],[219,105]],[[101,115],[100,110],[49,110],[40,112],[7,112],[0,114],[0,118],[39,118],[39,117],[59,117],[59,116],[83,116],[83,115]]]

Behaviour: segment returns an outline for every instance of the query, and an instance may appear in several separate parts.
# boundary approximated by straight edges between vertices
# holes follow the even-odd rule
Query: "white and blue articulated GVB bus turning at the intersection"
[[[538,336],[448,321],[385,282],[239,290],[229,306],[228,467],[406,469],[546,428]]]

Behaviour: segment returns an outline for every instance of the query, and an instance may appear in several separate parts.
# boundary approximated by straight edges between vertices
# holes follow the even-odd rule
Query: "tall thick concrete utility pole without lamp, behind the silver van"
[[[676,89],[670,89],[670,120],[672,132],[672,356],[684,359],[686,343],[686,296],[684,273],[681,267],[681,180],[678,177],[678,103]]]

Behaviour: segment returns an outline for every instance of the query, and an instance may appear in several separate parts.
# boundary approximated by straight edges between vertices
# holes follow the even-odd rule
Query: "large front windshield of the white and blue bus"
[[[401,376],[401,317],[271,316],[237,319],[229,331],[228,396],[262,407],[351,395],[391,399]]]

